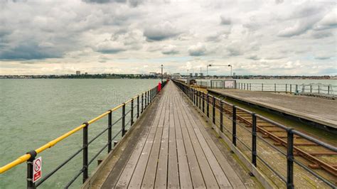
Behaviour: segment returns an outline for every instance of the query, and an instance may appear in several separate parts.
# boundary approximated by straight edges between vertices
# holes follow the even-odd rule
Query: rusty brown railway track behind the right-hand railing
[[[202,94],[202,98],[205,100],[206,95]],[[213,102],[213,98],[210,98],[210,104]],[[202,100],[201,100],[202,103]],[[216,111],[220,112],[220,102],[215,99]],[[210,112],[212,110],[210,109]],[[223,104],[223,113],[232,118],[232,107],[228,104]],[[246,128],[252,127],[252,115],[237,109],[236,112],[237,122],[245,126]],[[274,146],[284,146],[287,148],[287,131],[273,125],[267,121],[257,118],[257,132],[262,134],[265,139],[271,139]],[[294,156],[300,156],[305,159],[306,166],[311,169],[322,169],[326,173],[333,176],[334,182],[337,181],[337,153],[319,146],[301,136],[294,135]],[[330,160],[330,161],[329,161]]]

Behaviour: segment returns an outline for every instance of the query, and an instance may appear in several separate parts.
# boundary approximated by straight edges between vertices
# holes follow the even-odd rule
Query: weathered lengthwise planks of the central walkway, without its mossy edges
[[[161,95],[150,129],[102,188],[246,188],[173,82]]]

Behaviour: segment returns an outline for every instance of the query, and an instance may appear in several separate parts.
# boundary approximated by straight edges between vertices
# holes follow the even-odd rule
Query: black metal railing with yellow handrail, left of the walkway
[[[166,81],[162,82],[161,88],[163,88],[165,85]],[[82,168],[76,175],[73,176],[73,178],[71,178],[71,180],[67,183],[67,185],[65,185],[65,188],[68,188],[70,185],[72,185],[81,174],[82,174],[82,183],[85,183],[85,180],[87,180],[87,178],[89,177],[88,167],[90,166],[90,164],[95,160],[95,158],[97,158],[97,156],[100,155],[100,153],[102,153],[102,151],[105,150],[105,148],[107,148],[107,153],[112,151],[113,149],[112,141],[116,139],[116,137],[119,134],[122,134],[123,137],[127,133],[126,126],[129,125],[131,127],[134,124],[134,121],[139,119],[140,115],[144,112],[144,109],[146,109],[146,107],[148,107],[149,104],[153,102],[154,97],[156,97],[158,93],[159,90],[157,86],[151,88],[150,90],[147,90],[146,92],[142,92],[140,95],[137,95],[132,99],[129,99],[127,102],[119,104],[117,107],[109,109],[107,112],[101,114],[100,116],[95,117],[94,119],[91,119],[90,121],[87,121],[81,124],[80,126],[77,126],[75,129],[68,131],[62,136],[59,136],[57,139],[49,141],[47,144],[41,146],[40,148],[37,148],[36,150],[33,151],[28,151],[25,155],[18,157],[16,160],[6,164],[5,166],[2,166],[0,168],[0,174],[9,171],[11,168],[18,166],[21,163],[27,162],[27,188],[36,188],[43,182],[48,180],[48,178],[50,178],[50,176],[52,176],[54,173],[60,170],[60,168],[62,168],[73,158],[75,158],[75,156],[79,155],[82,152],[82,159],[83,159]],[[129,104],[128,111],[126,111],[127,104]],[[122,108],[122,115],[112,123],[113,112],[121,108]],[[128,114],[129,114],[129,121],[127,121]],[[107,117],[107,127],[89,141],[88,140],[89,126],[95,123],[95,121],[102,119],[103,117]],[[117,133],[114,134],[114,136],[112,136],[112,126],[115,126],[117,123],[121,123],[121,129],[119,129],[119,131],[117,131]],[[46,149],[55,146],[55,144],[58,144],[58,142],[68,138],[69,136],[75,134],[77,131],[80,130],[82,130],[82,148],[78,149],[75,153],[73,153],[72,156],[70,156],[67,160],[63,161],[63,163],[60,163],[60,165],[57,166],[55,169],[53,169],[53,171],[50,171],[50,173],[43,176],[36,183],[33,183],[33,161],[35,160],[37,154],[42,153]],[[104,146],[102,146],[100,151],[98,151],[91,159],[89,159],[88,152],[90,144],[92,144],[93,141],[102,136],[102,134],[104,134],[105,132],[108,132],[107,143]]]

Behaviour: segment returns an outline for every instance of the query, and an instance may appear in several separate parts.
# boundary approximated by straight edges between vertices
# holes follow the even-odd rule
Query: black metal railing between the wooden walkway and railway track
[[[176,80],[173,80],[173,82],[189,97],[189,99],[191,99],[191,101],[193,102],[193,104],[196,105],[196,107],[199,107],[199,109],[202,112],[205,112],[205,107],[206,107],[206,116],[213,121],[213,124],[216,126],[220,127],[220,131],[223,132],[223,120],[220,118],[218,120],[220,120],[220,124],[217,125],[217,121],[215,119],[216,114],[215,109],[217,111],[220,112],[220,115],[223,115],[223,113],[228,114],[226,115],[226,117],[230,118],[232,120],[232,131],[230,132],[230,134],[232,135],[232,144],[234,146],[237,146],[237,141],[240,141],[241,143],[243,143],[243,141],[241,141],[240,139],[237,138],[237,126],[243,126],[245,127],[252,127],[252,129],[250,130],[251,135],[252,135],[252,142],[251,142],[251,146],[252,148],[249,148],[249,146],[247,146],[246,144],[244,145],[246,148],[249,148],[251,151],[251,163],[253,166],[257,167],[257,158],[259,158],[261,160],[262,163],[264,163],[265,166],[267,166],[267,168],[269,168],[272,172],[274,172],[281,180],[283,180],[286,185],[287,188],[294,188],[294,163],[296,163],[297,165],[299,165],[301,168],[304,168],[304,170],[308,171],[309,173],[311,173],[311,175],[314,175],[314,177],[318,178],[319,180],[322,180],[324,183],[326,183],[327,185],[329,185],[331,188],[336,188],[336,183],[332,183],[330,180],[327,180],[326,178],[323,178],[321,175],[319,175],[318,173],[314,172],[311,170],[311,168],[307,167],[306,165],[304,165],[303,163],[296,161],[296,159],[294,158],[295,155],[300,155],[304,158],[306,158],[307,160],[311,161],[311,162],[315,162],[317,163],[321,168],[323,168],[324,170],[328,171],[328,173],[331,173],[332,175],[337,174],[336,172],[336,168],[334,166],[329,165],[328,163],[325,163],[321,160],[319,160],[318,158],[316,158],[315,156],[312,156],[310,153],[307,153],[306,151],[304,151],[303,149],[299,148],[298,144],[294,143],[294,139],[298,139],[299,137],[301,137],[301,139],[306,139],[307,141],[311,141],[314,144],[317,144],[319,146],[321,146],[322,148],[327,148],[329,151],[332,151],[333,153],[328,153],[329,155],[333,155],[337,153],[337,148],[336,146],[331,146],[329,144],[326,144],[322,141],[319,141],[317,139],[314,139],[311,136],[307,136],[306,134],[301,133],[301,131],[296,131],[294,129],[291,129],[287,126],[284,126],[282,124],[277,123],[276,121],[272,121],[270,119],[267,119],[266,117],[263,117],[259,114],[255,114],[254,112],[250,112],[246,109],[243,109],[241,107],[237,107],[235,105],[232,105],[228,102],[223,101],[222,99],[218,99],[217,97],[214,97],[213,95],[209,95],[209,94],[205,94],[203,92],[197,91],[195,90],[193,87],[189,87],[188,85],[186,85],[183,82],[178,82]],[[203,101],[203,105],[205,105],[206,102],[206,106],[205,107],[200,107],[200,99],[201,101]],[[224,105],[224,108],[223,108]],[[212,106],[213,112],[210,115],[209,114],[209,109],[210,106]],[[223,111],[220,111],[223,110]],[[245,116],[245,114],[247,116]],[[247,120],[247,118],[250,117],[250,119],[252,121]],[[287,136],[285,136],[285,140],[283,140],[282,138],[280,138],[279,136],[275,135],[272,133],[272,131],[269,131],[267,129],[264,129],[263,126],[261,126],[261,123],[258,121],[264,121],[267,122],[269,124],[274,125],[274,127],[277,127],[279,129],[282,129],[280,131],[284,131],[287,133]],[[240,124],[240,121],[242,123],[244,123],[244,125]],[[245,128],[247,130],[247,128]],[[226,129],[227,130],[227,129]],[[282,146],[287,148],[287,152],[284,153],[280,150],[279,151],[282,155],[286,156],[287,158],[287,178],[284,179],[283,176],[280,173],[277,173],[276,170],[274,170],[272,168],[271,165],[269,165],[269,163],[267,163],[267,161],[265,161],[261,156],[257,155],[257,139],[262,139],[261,136],[257,135],[257,132],[261,132],[262,134],[266,134],[270,139],[273,139],[274,141],[278,141],[280,144],[282,144]],[[265,141],[265,140],[263,140]],[[267,143],[268,145],[272,145]],[[272,146],[274,149],[277,149],[276,146]],[[240,150],[240,149],[238,149]],[[296,153],[296,154],[294,154]]]

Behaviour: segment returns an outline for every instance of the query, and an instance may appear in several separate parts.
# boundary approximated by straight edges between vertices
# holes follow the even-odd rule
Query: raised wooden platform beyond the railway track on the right
[[[337,129],[336,100],[248,90],[208,89],[208,91]]]

